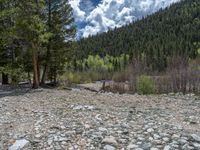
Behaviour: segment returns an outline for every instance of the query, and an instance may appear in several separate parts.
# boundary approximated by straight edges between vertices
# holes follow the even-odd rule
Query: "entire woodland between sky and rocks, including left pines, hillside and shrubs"
[[[38,88],[46,82],[66,86],[113,80],[128,81],[136,92],[141,80],[157,93],[200,89],[199,0],[182,0],[79,40],[72,8],[64,0],[0,3],[3,84],[28,80]]]

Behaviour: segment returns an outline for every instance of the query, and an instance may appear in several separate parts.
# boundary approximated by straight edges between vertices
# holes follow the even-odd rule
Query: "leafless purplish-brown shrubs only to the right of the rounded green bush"
[[[199,93],[200,70],[198,60],[174,57],[168,63],[164,75],[154,77],[159,93]]]

